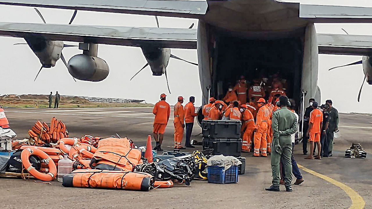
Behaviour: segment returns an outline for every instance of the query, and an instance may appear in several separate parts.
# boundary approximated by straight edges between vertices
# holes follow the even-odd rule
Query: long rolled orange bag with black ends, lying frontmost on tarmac
[[[79,169],[63,177],[64,187],[149,191],[154,177],[148,173]]]

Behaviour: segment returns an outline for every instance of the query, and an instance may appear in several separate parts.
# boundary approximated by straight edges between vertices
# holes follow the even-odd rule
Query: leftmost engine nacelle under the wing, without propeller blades
[[[25,38],[25,40],[44,68],[54,67],[55,62],[60,59],[63,49],[62,41],[51,41],[36,36]]]

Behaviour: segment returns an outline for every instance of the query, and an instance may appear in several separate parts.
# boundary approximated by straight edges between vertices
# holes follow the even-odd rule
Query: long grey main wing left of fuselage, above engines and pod
[[[0,36],[42,36],[53,41],[90,42],[122,46],[158,45],[196,49],[196,29],[124,26],[57,25],[0,22]]]

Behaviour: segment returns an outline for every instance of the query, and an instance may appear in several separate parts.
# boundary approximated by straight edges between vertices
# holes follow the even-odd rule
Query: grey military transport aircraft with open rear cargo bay
[[[314,27],[372,22],[372,8],[278,0],[0,0],[0,4],[199,19],[197,30],[0,23],[0,35],[38,40],[38,47],[28,44],[36,55],[49,55],[38,56],[42,64],[61,57],[63,47],[52,41],[80,42],[83,54],[67,64],[80,80],[105,79],[109,68],[97,58],[97,44],[112,44],[141,47],[153,75],[166,73],[172,57],[169,48],[197,49],[202,103],[209,94],[222,95],[242,74],[257,78],[278,71],[291,81],[289,97],[302,104],[311,97],[320,100],[318,53],[364,55],[365,80],[372,84],[372,37],[317,34]]]

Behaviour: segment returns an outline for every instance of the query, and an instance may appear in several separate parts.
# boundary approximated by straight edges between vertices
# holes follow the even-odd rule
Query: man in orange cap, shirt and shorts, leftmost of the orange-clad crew
[[[153,109],[153,114],[155,115],[153,133],[156,142],[154,150],[157,151],[163,151],[163,149],[161,149],[161,143],[163,143],[164,131],[170,115],[170,106],[165,101],[166,96],[165,94],[161,94],[160,101],[155,104]]]

